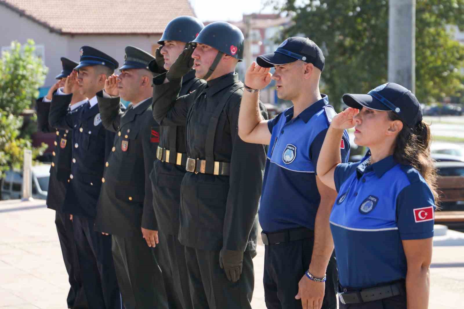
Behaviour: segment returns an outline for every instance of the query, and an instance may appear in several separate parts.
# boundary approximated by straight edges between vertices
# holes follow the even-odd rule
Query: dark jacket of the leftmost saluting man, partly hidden
[[[56,130],[50,126],[48,122],[50,102],[42,102],[42,100],[43,97],[36,101],[38,130],[43,133],[56,132],[46,204],[48,208],[61,212],[71,173],[72,135],[70,130]]]

